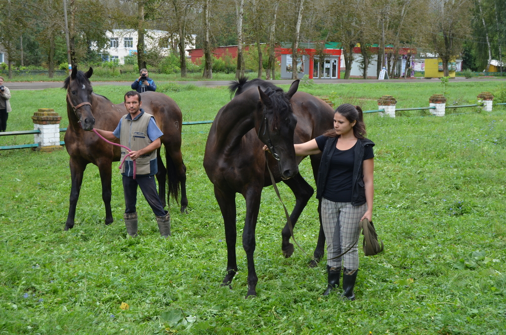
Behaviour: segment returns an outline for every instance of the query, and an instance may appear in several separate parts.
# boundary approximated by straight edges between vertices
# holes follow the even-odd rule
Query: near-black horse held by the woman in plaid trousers
[[[298,164],[304,157],[294,155],[293,143],[309,141],[333,125],[332,108],[321,99],[297,92],[298,86],[299,81],[294,81],[288,92],[284,93],[272,83],[260,79],[246,81],[241,78],[233,82],[230,90],[235,91],[236,95],[218,112],[205,146],[205,172],[214,184],[215,196],[225,222],[228,264],[223,285],[230,285],[237,272],[236,193],[241,193],[246,200],[242,245],[248,264],[247,296],[256,295],[258,281],[253,254],[262,189],[272,185],[262,150],[263,143],[272,146],[273,155],[269,155],[268,164],[276,182],[282,180],[296,196],[296,205],[290,215],[295,225],[314,190],[299,174]],[[320,155],[311,156],[315,178],[320,159]],[[282,237],[283,255],[290,257],[293,244],[289,242],[288,224],[282,231]],[[324,244],[320,219],[315,260],[323,256]]]

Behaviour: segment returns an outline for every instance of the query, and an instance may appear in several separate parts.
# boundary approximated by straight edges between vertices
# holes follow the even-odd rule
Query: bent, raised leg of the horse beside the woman
[[[293,192],[293,195],[295,195],[295,207],[293,207],[293,211],[290,214],[290,221],[292,224],[292,229],[295,227],[295,224],[297,223],[297,220],[299,220],[299,217],[301,216],[302,211],[304,210],[304,207],[306,207],[306,204],[308,203],[309,199],[311,199],[311,196],[313,196],[314,190],[309,185],[304,178],[301,176],[301,174],[297,174],[296,176],[283,180],[283,182],[288,185],[288,187]],[[283,252],[284,257],[288,258],[293,254],[293,244],[290,243],[290,227],[288,225],[288,222],[286,222],[283,231],[281,232],[282,236],[282,242],[281,242],[281,250]]]

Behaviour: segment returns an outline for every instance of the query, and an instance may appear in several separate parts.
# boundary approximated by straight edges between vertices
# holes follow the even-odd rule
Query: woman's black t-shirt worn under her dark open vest
[[[315,140],[318,149],[323,151],[329,137],[318,136]],[[360,145],[359,141],[348,150],[339,150],[334,147],[330,167],[328,169],[327,181],[322,196],[334,202],[351,202],[353,189],[353,165],[355,162],[355,146]],[[374,157],[372,147],[366,145],[362,161]]]

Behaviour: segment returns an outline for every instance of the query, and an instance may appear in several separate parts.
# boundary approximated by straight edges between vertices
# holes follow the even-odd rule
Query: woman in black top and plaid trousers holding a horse
[[[372,221],[374,195],[374,143],[365,138],[365,124],[359,106],[343,104],[334,113],[334,129],[309,142],[296,144],[298,156],[323,152],[316,183],[327,241],[327,296],[339,287],[343,268],[343,294],[355,300],[353,287],[358,272],[359,223]],[[351,249],[350,249],[351,248]],[[346,250],[348,253],[332,259]]]

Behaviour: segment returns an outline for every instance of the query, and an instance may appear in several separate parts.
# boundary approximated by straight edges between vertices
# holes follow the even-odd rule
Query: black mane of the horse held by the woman
[[[272,127],[278,128],[281,120],[291,111],[290,99],[286,96],[283,89],[263,79],[255,78],[248,81],[248,77],[243,76],[240,77],[239,80],[232,81],[229,90],[231,95],[235,92],[234,97],[237,97],[247,89],[258,86],[271,98],[271,107],[273,111]],[[258,108],[261,108],[260,102]]]

